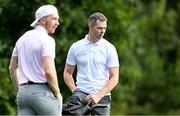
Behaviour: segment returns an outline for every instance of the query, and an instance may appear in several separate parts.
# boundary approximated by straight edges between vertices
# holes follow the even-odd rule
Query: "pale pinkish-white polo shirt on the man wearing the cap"
[[[42,58],[55,58],[55,41],[42,26],[23,34],[16,42],[12,56],[18,56],[19,84],[33,81],[46,82]]]

